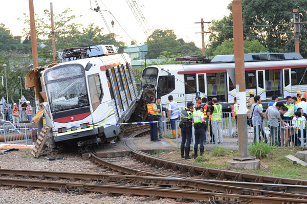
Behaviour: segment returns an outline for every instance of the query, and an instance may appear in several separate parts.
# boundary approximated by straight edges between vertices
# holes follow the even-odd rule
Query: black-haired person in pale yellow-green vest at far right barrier
[[[301,142],[304,142],[306,139],[306,121],[302,118],[302,114],[300,111],[296,111],[294,113],[295,117],[296,117],[296,121],[294,126],[294,130],[295,133],[293,135],[291,135],[291,141],[294,143],[294,146],[300,146]],[[304,141],[300,141],[301,138],[301,131],[303,131],[303,140]]]

